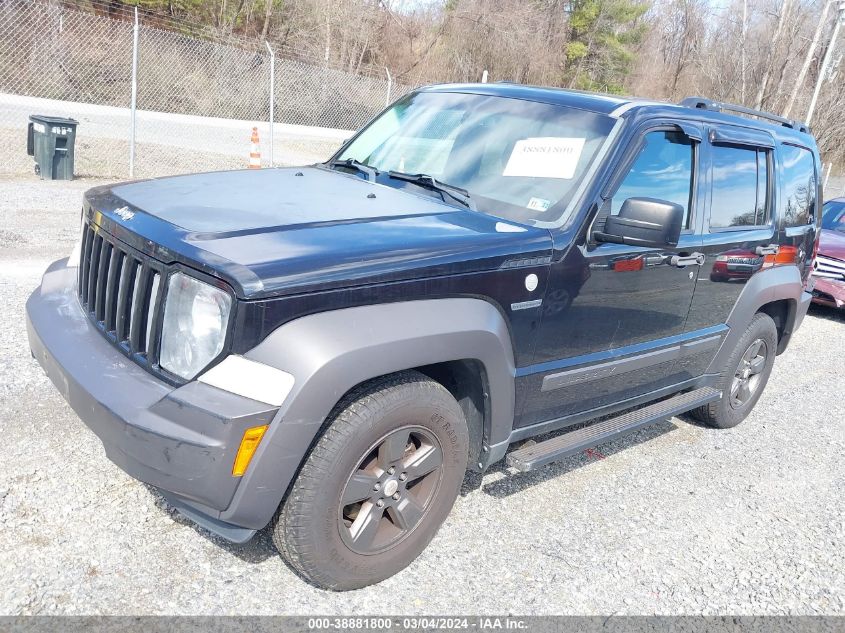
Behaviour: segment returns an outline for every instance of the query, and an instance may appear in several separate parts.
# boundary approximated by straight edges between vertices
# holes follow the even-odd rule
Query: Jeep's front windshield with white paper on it
[[[479,211],[518,222],[554,222],[614,123],[594,112],[521,99],[414,93],[374,120],[335,160],[374,167],[379,183],[443,197],[435,187],[389,172],[426,174],[465,190]]]

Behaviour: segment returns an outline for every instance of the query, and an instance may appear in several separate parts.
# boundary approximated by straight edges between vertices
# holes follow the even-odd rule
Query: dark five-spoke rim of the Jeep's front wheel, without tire
[[[377,554],[420,524],[440,485],[440,442],[428,430],[406,426],[373,444],[341,493],[338,527],[347,547]]]

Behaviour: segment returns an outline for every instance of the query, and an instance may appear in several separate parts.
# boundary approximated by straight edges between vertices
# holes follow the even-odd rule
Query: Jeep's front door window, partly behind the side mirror
[[[639,156],[613,194],[611,215],[617,215],[628,198],[658,198],[681,205],[684,208],[683,227],[689,228],[693,159],[693,143],[686,134],[647,133]]]

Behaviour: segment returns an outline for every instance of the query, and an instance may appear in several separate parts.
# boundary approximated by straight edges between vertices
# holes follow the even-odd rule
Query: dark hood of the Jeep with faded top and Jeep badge
[[[545,229],[317,167],[98,187],[84,212],[129,246],[219,277],[242,298],[490,270],[552,248]]]

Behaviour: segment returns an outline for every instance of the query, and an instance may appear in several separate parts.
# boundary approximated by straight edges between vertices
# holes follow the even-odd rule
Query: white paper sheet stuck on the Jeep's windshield
[[[513,147],[503,176],[572,178],[584,150],[583,138],[526,138]]]

